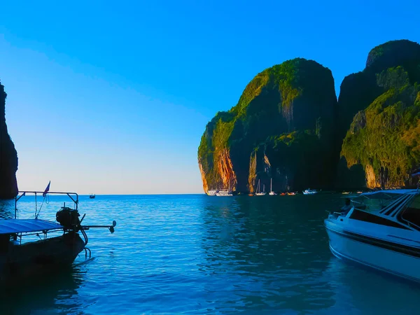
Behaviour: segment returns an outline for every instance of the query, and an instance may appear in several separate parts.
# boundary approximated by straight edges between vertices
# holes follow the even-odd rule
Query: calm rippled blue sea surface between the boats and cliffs
[[[33,201],[18,203],[20,218],[33,216]],[[50,197],[40,218],[55,220],[64,201]],[[342,204],[342,195],[80,196],[83,223],[116,220],[116,232],[87,231],[95,259],[85,265],[3,288],[0,314],[419,314],[419,286],[330,253],[325,210]],[[0,217],[13,207],[2,202]]]

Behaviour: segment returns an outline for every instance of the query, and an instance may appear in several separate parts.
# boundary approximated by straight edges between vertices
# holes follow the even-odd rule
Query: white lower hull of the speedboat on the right
[[[338,258],[420,282],[420,251],[415,248],[390,244],[388,241],[335,230],[325,223],[330,239],[330,250]]]

